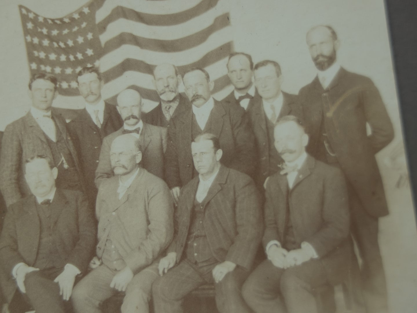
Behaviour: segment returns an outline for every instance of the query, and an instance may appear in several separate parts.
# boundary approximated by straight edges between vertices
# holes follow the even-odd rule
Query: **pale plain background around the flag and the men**
[[[3,0],[0,3],[0,130],[29,108],[29,70],[18,3],[40,15],[59,18],[86,0]],[[341,40],[339,62],[372,78],[379,88],[396,130],[396,139],[378,155],[391,214],[381,219],[380,242],[389,283],[392,312],[417,308],[416,228],[409,188],[395,188],[398,168],[387,167],[392,149],[402,152],[401,124],[382,0],[230,0],[237,51],[254,62],[269,58],[281,64],[283,89],[290,93],[309,83],[316,73],[305,43],[313,25],[329,24]],[[56,101],[59,106],[59,99]],[[78,104],[74,104],[75,107]],[[404,159],[397,159],[403,160]]]

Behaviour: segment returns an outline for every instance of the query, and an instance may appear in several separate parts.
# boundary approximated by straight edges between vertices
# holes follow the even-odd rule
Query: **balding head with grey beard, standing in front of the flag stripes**
[[[175,65],[162,63],[153,70],[153,86],[163,101],[172,101],[178,95],[180,81]]]

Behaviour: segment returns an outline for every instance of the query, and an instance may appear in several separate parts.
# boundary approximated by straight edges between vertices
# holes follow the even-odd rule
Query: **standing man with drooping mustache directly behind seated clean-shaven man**
[[[166,182],[175,202],[180,187],[198,175],[190,143],[201,133],[213,133],[219,138],[224,165],[248,175],[254,171],[254,135],[244,110],[214,100],[214,82],[202,68],[188,70],[183,82],[192,106],[171,120],[165,154]]]

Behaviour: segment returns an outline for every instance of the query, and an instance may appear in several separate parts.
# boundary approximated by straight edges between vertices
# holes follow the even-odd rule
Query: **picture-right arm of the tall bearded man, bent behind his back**
[[[361,95],[366,120],[372,131],[368,138],[377,153],[394,139],[394,128],[381,95],[371,80]]]

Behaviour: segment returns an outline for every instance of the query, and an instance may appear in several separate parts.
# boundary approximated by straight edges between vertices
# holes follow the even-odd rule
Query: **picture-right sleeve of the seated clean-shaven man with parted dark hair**
[[[239,180],[235,182],[237,235],[229,248],[226,260],[249,269],[264,230],[261,202],[251,178],[239,175],[236,180]]]

